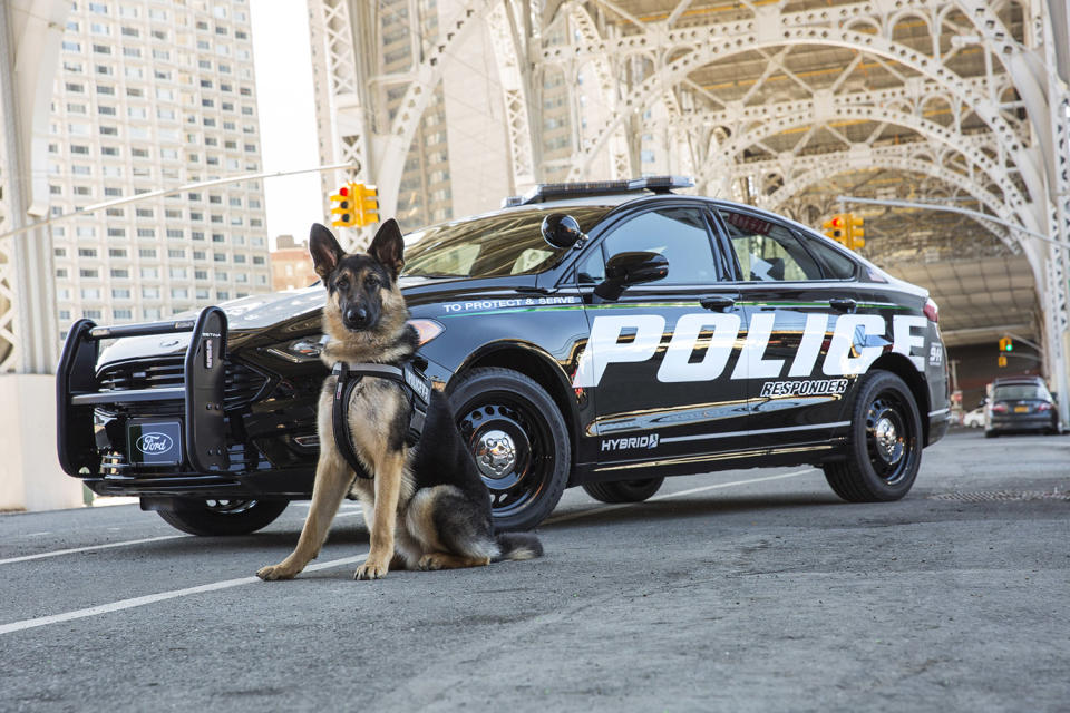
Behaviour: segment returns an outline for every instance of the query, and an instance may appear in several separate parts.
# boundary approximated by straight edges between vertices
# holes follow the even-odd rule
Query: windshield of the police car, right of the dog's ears
[[[557,264],[570,248],[543,240],[543,218],[567,213],[584,233],[612,206],[558,206],[507,211],[426,227],[406,236],[405,275],[500,277],[529,275]]]

